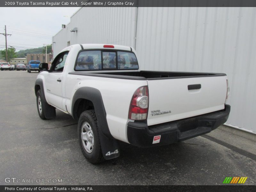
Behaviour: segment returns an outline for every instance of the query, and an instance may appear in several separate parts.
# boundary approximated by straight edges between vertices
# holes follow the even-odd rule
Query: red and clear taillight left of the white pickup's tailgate
[[[138,88],[132,96],[129,119],[144,120],[148,115],[148,86]]]

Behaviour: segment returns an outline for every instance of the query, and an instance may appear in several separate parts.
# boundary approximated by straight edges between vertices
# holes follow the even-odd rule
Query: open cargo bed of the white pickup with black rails
[[[169,72],[169,71],[129,71],[129,72],[100,72],[88,73],[71,72],[73,75],[99,76],[108,78],[133,79],[133,80],[157,80],[171,78],[190,78],[190,77],[208,77],[208,76],[225,76],[224,73],[196,73],[196,72]]]

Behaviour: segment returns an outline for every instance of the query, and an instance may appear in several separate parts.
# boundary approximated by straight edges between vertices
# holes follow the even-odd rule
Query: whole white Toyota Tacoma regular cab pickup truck
[[[54,118],[55,108],[72,115],[91,163],[118,157],[117,140],[168,145],[211,132],[230,112],[225,74],[141,71],[131,47],[72,45],[40,70],[39,116]]]

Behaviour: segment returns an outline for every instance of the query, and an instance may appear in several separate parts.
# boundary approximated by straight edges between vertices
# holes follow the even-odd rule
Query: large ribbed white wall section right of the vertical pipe
[[[226,73],[227,124],[256,132],[255,17],[255,7],[139,7],[140,67]]]

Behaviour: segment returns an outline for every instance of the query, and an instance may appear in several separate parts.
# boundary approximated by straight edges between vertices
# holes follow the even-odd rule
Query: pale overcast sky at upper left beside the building
[[[6,25],[7,45],[16,51],[51,44],[52,36],[68,24],[78,7],[0,7],[0,33]],[[5,49],[5,37],[0,34],[0,50]]]

